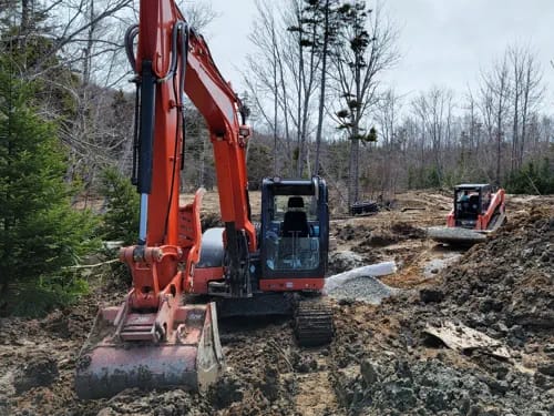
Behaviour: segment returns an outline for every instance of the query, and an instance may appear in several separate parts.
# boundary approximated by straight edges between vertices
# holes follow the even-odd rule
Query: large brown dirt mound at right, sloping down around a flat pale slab
[[[349,414],[554,414],[554,212],[533,205],[462,255],[442,283],[337,308],[332,385]],[[448,349],[423,329],[462,322],[509,359]]]

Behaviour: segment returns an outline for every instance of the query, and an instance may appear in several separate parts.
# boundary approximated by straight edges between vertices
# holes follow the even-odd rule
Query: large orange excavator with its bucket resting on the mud
[[[205,389],[224,366],[218,311],[248,315],[264,305],[259,313],[293,313],[300,345],[330,342],[331,313],[319,296],[329,241],[325,181],[265,179],[255,226],[247,111],[204,39],[173,0],[141,0],[140,23],[125,44],[137,87],[133,182],[141,214],[137,243],[121,248],[120,258],[133,285],[96,316],[76,363],[79,397],[129,387]],[[204,234],[203,193],[179,206],[185,93],[208,126],[225,224]]]

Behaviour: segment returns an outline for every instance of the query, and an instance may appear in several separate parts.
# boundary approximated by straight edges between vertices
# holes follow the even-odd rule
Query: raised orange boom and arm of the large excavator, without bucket
[[[136,59],[131,59],[141,97],[136,146],[142,201],[140,244],[178,242],[178,166],[184,156],[186,93],[208,126],[229,275],[237,280],[234,275],[238,273],[238,260],[247,255],[242,246],[254,252],[257,245],[247,197],[245,148],[249,129],[239,124],[237,114],[242,103],[217,70],[206,42],[188,28],[174,1],[142,1],[140,10],[140,24],[134,31],[138,37],[137,53]]]

